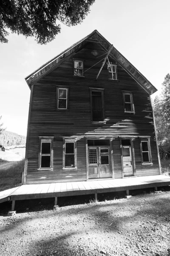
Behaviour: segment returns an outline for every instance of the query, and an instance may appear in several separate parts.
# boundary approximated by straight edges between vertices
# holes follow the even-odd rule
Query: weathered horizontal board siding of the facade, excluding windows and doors
[[[98,56],[91,54],[96,49]],[[75,59],[84,60],[85,71],[103,59],[105,52],[99,44],[88,44]],[[105,55],[104,55],[105,57]],[[113,63],[113,59],[109,57]],[[26,184],[68,182],[86,180],[85,136],[112,136],[114,177],[122,177],[119,136],[136,136],[134,151],[136,176],[159,175],[155,131],[146,91],[117,66],[119,81],[108,80],[105,64],[97,81],[102,61],[84,73],[85,77],[73,76],[73,59],[62,63],[57,69],[34,84],[30,131],[28,139],[28,163]],[[56,109],[56,87],[69,87],[68,110]],[[91,123],[89,87],[104,88],[106,124]],[[133,93],[135,113],[124,113],[122,90]],[[53,171],[37,170],[39,136],[54,136]],[[62,169],[62,136],[77,136],[77,170]],[[153,166],[142,166],[138,136],[150,136]]]

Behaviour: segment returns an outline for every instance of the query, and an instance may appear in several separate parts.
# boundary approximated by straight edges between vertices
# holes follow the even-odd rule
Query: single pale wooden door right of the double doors
[[[133,175],[132,167],[132,156],[131,156],[131,146],[122,146],[123,154],[123,175],[124,177]]]

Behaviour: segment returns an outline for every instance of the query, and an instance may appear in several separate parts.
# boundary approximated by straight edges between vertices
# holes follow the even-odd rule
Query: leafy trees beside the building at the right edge
[[[159,145],[170,147],[170,74],[165,76],[161,95],[154,99],[154,114]]]

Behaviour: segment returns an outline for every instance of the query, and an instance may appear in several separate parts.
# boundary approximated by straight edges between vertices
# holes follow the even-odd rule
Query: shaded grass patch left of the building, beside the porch
[[[0,191],[21,185],[25,160],[13,162],[8,168],[0,169]]]

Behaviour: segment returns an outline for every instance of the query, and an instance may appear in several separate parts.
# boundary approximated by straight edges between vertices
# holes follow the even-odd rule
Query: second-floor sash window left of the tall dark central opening
[[[57,108],[68,109],[68,88],[57,88]]]

